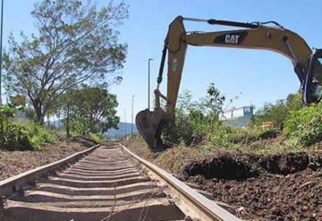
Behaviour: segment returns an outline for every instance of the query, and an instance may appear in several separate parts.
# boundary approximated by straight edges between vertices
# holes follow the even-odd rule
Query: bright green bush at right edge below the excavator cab
[[[322,104],[292,111],[284,123],[284,132],[301,145],[309,146],[322,140]]]

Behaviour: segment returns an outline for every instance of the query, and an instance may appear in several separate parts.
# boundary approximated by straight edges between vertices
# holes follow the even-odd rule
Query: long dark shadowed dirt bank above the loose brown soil
[[[297,152],[261,156],[225,152],[216,157],[188,162],[182,168],[182,176],[202,175],[206,179],[243,180],[258,174],[293,174],[308,167],[322,167],[322,154]]]

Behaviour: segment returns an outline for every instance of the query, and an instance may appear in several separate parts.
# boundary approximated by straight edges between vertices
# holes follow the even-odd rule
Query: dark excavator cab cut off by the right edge
[[[319,78],[319,79],[318,79]],[[303,104],[318,103],[322,98],[322,49],[309,57],[308,69],[303,83]]]

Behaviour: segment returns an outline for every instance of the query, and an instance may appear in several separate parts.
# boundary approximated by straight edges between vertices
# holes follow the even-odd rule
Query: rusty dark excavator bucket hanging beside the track
[[[135,123],[143,139],[148,143],[148,147],[156,148],[159,138],[158,129],[162,120],[161,110],[149,111],[145,109],[136,115]]]

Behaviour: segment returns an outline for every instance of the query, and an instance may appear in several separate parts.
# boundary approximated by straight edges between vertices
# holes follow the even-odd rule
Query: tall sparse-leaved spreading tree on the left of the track
[[[97,8],[81,0],[42,0],[32,16],[38,34],[13,35],[4,53],[6,89],[26,95],[37,121],[55,100],[82,82],[121,81],[112,74],[123,68],[127,45],[119,43],[117,28],[127,18],[127,5],[110,2]]]

